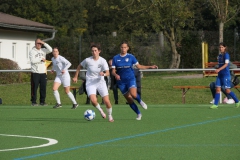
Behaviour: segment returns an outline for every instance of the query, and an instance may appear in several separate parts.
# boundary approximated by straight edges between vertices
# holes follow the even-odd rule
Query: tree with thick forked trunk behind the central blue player
[[[132,27],[138,31],[150,29],[159,33],[163,31],[171,45],[172,61],[169,68],[179,68],[180,54],[177,51],[181,40],[182,29],[194,24],[194,12],[191,10],[194,1],[189,0],[131,0],[121,1],[122,6],[115,8],[124,14],[120,29]],[[136,32],[136,31],[135,31]]]

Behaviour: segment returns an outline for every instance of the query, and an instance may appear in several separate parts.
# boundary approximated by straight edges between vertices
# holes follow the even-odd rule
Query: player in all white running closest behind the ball
[[[107,107],[108,120],[109,122],[113,122],[114,120],[112,117],[112,105],[109,100],[108,89],[104,80],[104,76],[109,76],[109,67],[107,61],[99,56],[101,49],[98,45],[92,45],[91,50],[92,56],[84,59],[78,65],[73,81],[77,82],[78,74],[81,68],[87,69],[86,90],[88,97],[90,98],[92,105],[99,110],[102,117],[106,118],[106,114],[104,113],[97,101],[96,93],[98,91],[98,93],[103,98],[104,104]],[[105,71],[106,73],[104,73],[103,71]]]

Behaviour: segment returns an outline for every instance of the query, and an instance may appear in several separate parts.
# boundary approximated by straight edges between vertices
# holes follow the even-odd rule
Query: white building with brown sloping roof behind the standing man
[[[21,69],[29,69],[29,51],[35,46],[38,33],[52,33],[53,26],[30,21],[0,12],[0,58],[11,59],[18,63]]]

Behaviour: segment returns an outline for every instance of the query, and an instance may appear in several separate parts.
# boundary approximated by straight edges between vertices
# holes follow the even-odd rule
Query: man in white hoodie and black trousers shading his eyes
[[[44,46],[45,48],[42,48]],[[37,90],[40,85],[40,105],[46,106],[47,74],[46,74],[46,55],[52,52],[52,47],[41,39],[35,40],[35,47],[29,53],[31,62],[31,102],[32,106],[37,104]]]

